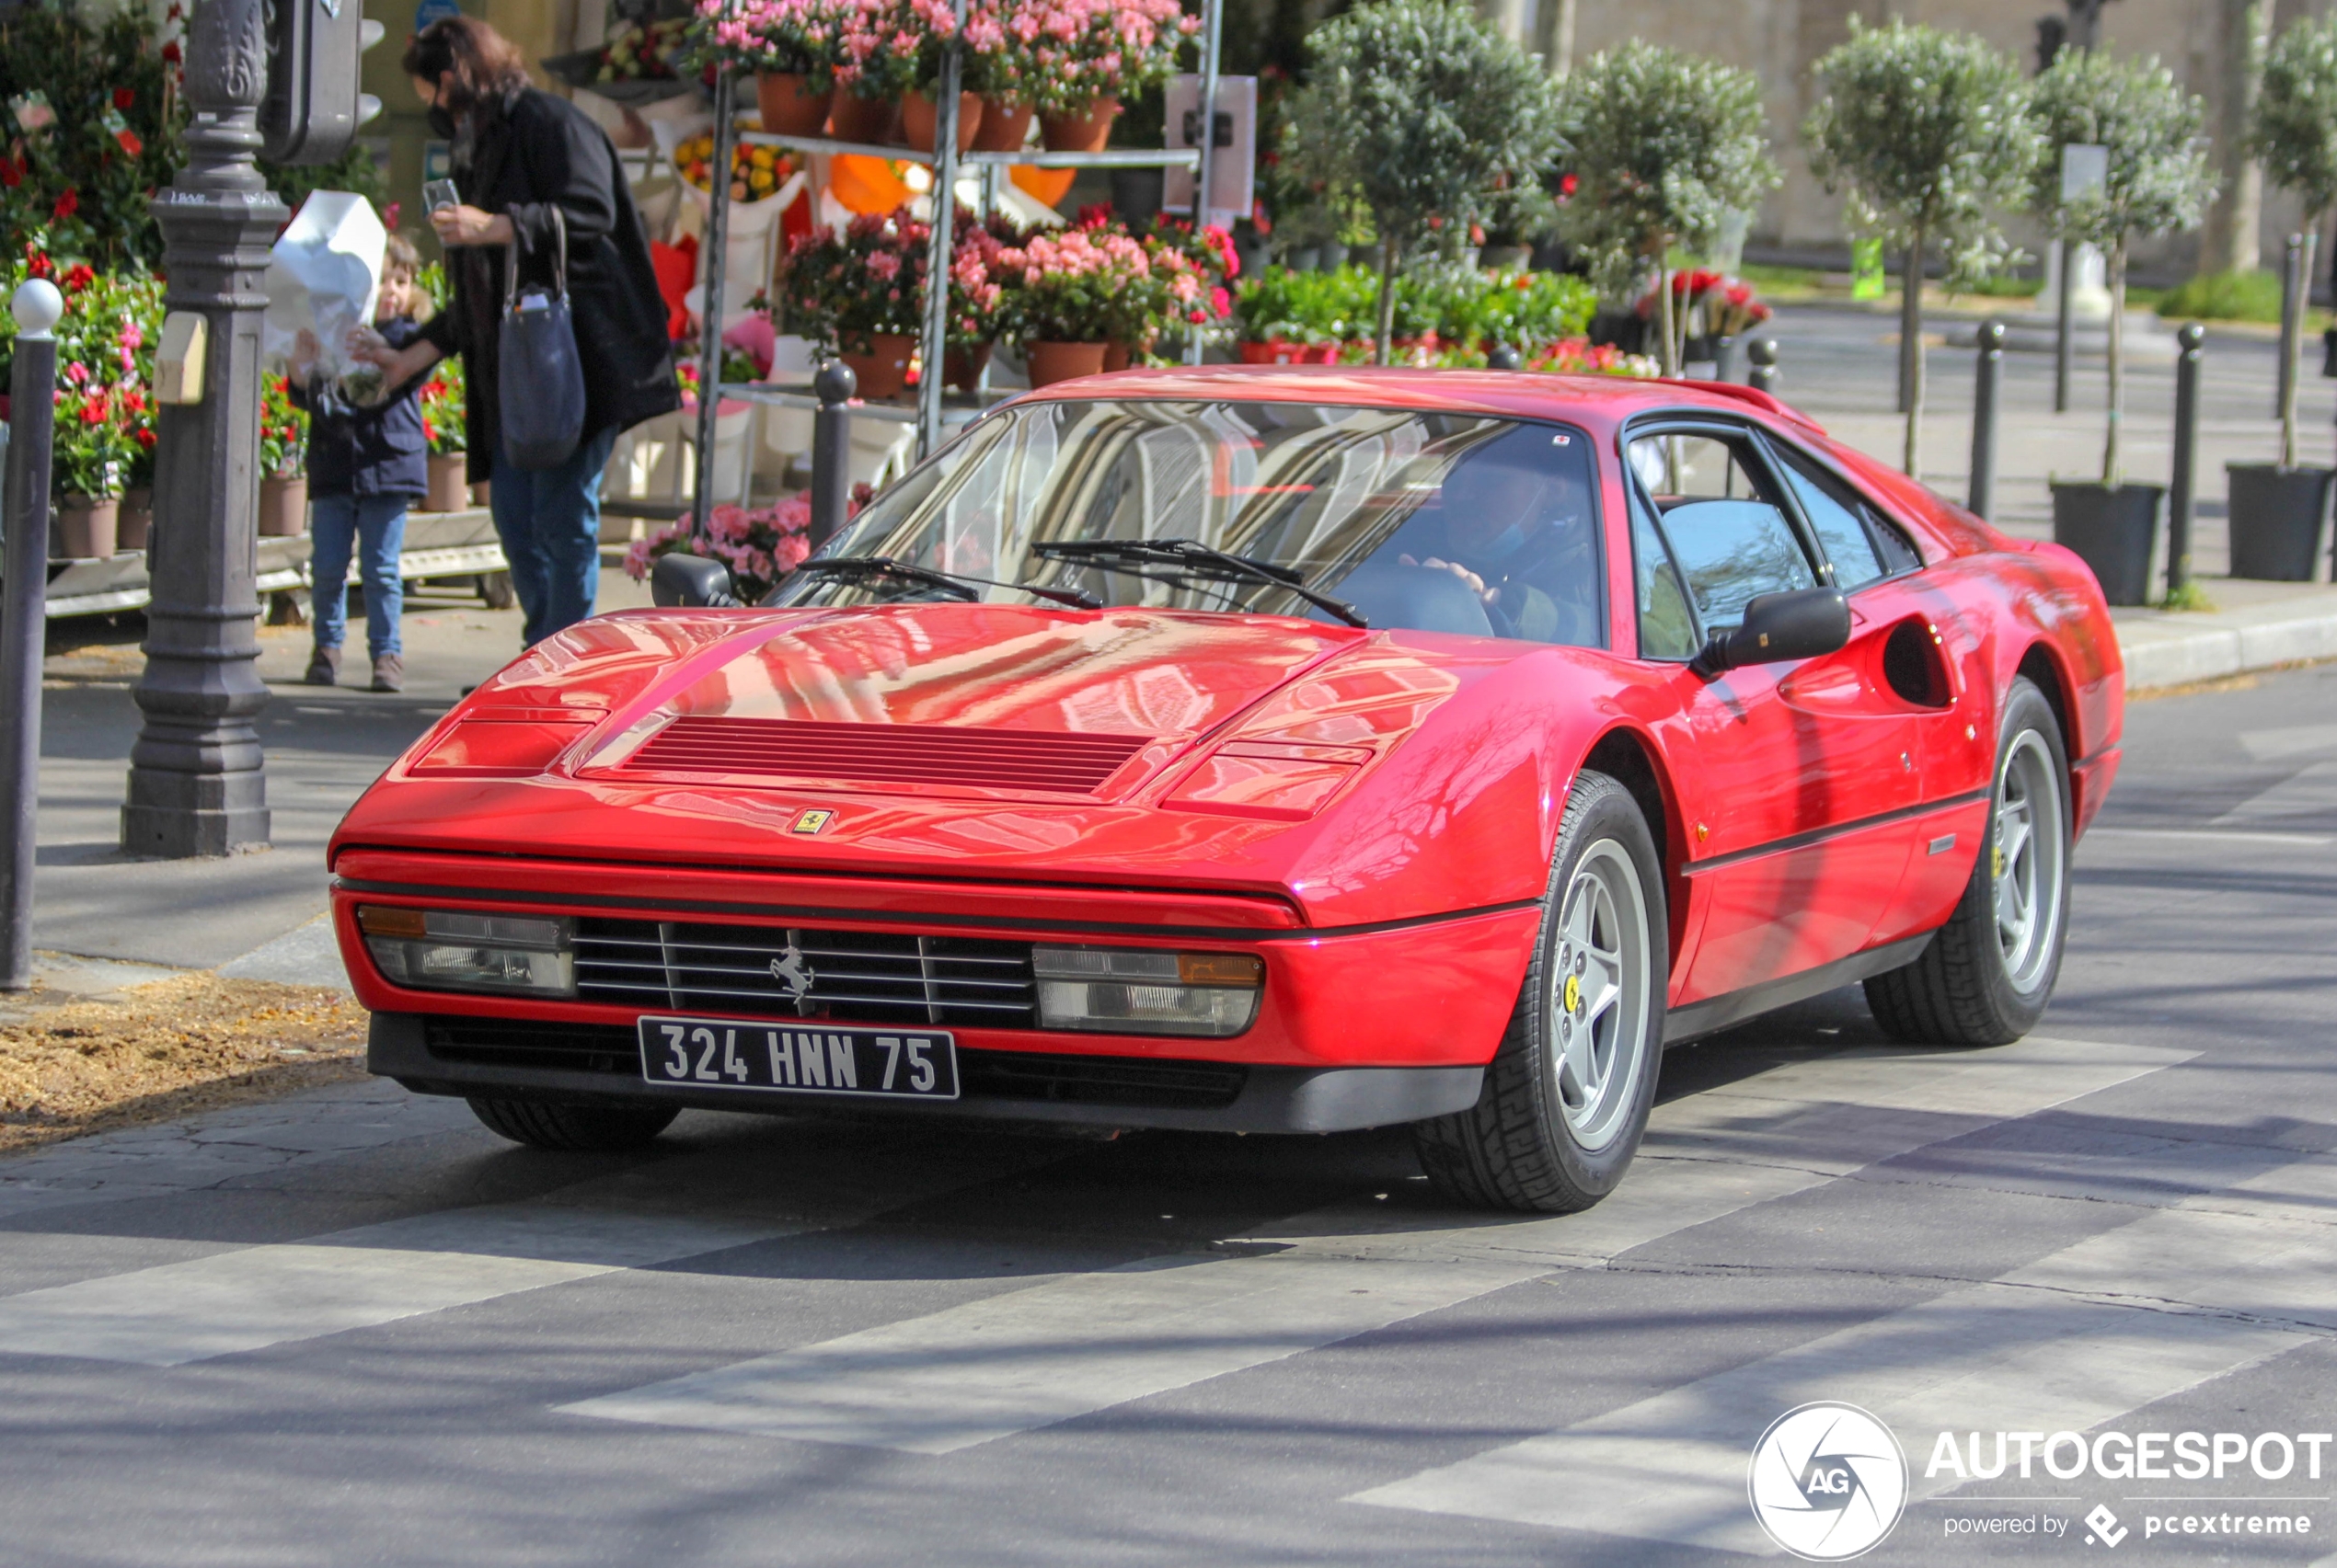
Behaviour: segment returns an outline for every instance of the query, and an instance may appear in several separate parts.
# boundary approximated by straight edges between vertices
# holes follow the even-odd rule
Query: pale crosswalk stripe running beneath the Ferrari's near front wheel
[[[580,1400],[610,1421],[951,1453],[1388,1327],[1832,1180],[1872,1159],[2155,1073],[2192,1052],[2033,1040],[1846,1052],[1662,1108],[1622,1189],[1552,1220],[1407,1222],[1341,1203],[1232,1260],[1150,1260],[731,1367]],[[1771,1082],[1774,1080],[1774,1082]],[[1760,1087],[1755,1087],[1760,1084]],[[1825,1098],[1849,1096],[1849,1098]],[[1909,1108],[1940,1098],[1951,1110]],[[1867,1124],[1851,1115],[1865,1112]],[[1856,1154],[1828,1164],[1830,1140]]]

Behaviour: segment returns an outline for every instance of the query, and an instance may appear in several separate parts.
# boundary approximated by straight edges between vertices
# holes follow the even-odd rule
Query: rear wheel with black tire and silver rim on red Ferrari
[[[2038,780],[2036,773],[2050,773]],[[2007,792],[2019,792],[2019,776],[2031,776],[2031,830],[2014,846],[2014,860],[2000,862],[1998,834],[2017,834],[2019,818],[2007,818]],[[2045,788],[2038,790],[2036,785]],[[2038,823],[2040,816],[2052,823]],[[2043,827],[2043,832],[2038,832]],[[2045,853],[2050,851],[2050,855]],[[2045,923],[2031,939],[2007,951],[2010,937],[1998,921],[2005,883],[2017,888],[2019,855],[2031,855],[2031,888],[2050,876]],[[2005,694],[2005,715],[1996,736],[1996,773],[1989,785],[1989,825],[1982,830],[1972,881],[1965,883],[1956,914],[1947,918],[1914,963],[1867,981],[1867,1007],[1893,1040],[1909,1045],[2010,1045],[2036,1028],[2061,974],[2061,944],[2068,937],[2068,750],[2052,703],[2026,678],[2014,678]],[[2033,907],[2031,895],[2031,907]],[[2033,928],[2033,916],[2031,916]]]

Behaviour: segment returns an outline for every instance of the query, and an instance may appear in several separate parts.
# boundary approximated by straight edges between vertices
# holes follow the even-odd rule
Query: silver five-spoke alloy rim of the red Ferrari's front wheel
[[[1648,1056],[1648,900],[1615,839],[1575,862],[1559,902],[1549,1017],[1559,1110],[1584,1150],[1617,1138]]]

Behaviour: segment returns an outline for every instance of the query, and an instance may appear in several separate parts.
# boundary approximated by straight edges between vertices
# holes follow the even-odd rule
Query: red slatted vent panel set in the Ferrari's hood
[[[685,715],[624,766],[643,773],[757,773],[818,783],[925,783],[1094,795],[1150,736],[951,724],[830,724]]]

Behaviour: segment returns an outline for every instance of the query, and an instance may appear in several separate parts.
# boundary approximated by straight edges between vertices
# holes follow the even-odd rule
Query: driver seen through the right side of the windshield
[[[1454,467],[1435,509],[1405,528],[1398,561],[1447,570],[1468,584],[1493,636],[1596,643],[1596,523],[1582,465],[1563,456],[1519,463],[1524,453],[1505,451],[1514,439]]]

